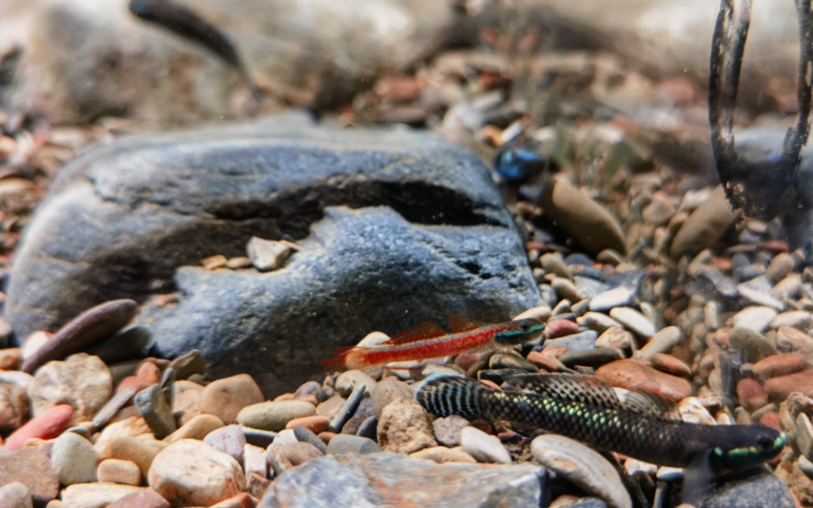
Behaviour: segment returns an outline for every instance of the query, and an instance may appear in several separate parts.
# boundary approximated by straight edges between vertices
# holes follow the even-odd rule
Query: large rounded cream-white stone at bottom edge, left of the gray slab
[[[191,439],[163,449],[150,467],[148,480],[150,488],[180,506],[210,506],[246,487],[246,475],[234,458]]]

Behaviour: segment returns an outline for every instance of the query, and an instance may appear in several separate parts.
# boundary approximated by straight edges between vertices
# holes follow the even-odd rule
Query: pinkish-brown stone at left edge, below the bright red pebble
[[[12,482],[24,484],[37,506],[45,506],[59,493],[59,479],[51,470],[50,458],[39,448],[0,454],[0,485]]]

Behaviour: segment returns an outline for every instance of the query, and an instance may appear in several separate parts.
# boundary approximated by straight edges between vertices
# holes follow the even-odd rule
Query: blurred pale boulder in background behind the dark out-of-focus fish
[[[437,0],[173,0],[229,37],[267,100],[210,50],[137,20],[128,0],[0,2],[0,106],[54,123],[102,115],[160,123],[346,103],[446,37]]]

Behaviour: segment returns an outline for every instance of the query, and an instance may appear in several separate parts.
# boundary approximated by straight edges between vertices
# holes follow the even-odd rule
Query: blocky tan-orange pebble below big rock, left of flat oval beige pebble
[[[198,408],[220,418],[223,423],[235,423],[246,406],[263,402],[263,392],[254,378],[238,374],[212,381],[201,393]]]

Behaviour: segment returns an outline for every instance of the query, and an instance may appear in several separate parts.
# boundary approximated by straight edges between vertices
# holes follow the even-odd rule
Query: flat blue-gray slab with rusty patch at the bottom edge
[[[437,464],[403,455],[318,458],[280,476],[258,508],[528,508],[541,506],[546,471],[531,464]]]

